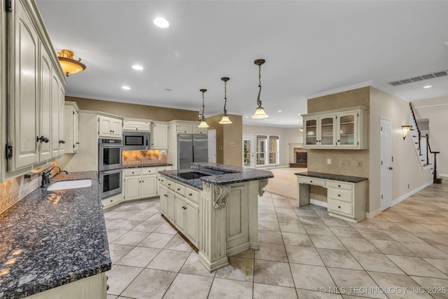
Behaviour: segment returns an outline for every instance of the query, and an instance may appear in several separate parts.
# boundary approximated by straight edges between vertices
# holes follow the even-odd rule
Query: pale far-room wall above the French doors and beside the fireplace
[[[301,144],[302,132],[297,127],[263,127],[259,125],[243,125],[243,134],[279,135],[279,165],[289,167],[289,144]]]

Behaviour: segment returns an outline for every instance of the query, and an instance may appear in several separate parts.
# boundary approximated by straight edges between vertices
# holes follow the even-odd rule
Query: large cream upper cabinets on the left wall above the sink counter
[[[11,1],[6,13],[8,172],[43,164],[64,152],[66,78],[34,1]],[[3,12],[2,12],[3,13]]]

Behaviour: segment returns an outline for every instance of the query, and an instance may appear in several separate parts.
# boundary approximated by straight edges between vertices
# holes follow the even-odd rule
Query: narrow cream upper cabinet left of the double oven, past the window
[[[65,153],[76,153],[78,151],[78,104],[76,102],[65,102]]]

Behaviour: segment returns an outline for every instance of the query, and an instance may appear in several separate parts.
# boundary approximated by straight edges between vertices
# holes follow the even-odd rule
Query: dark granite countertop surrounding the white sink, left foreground
[[[87,188],[37,188],[0,214],[0,298],[23,298],[111,269],[97,172]]]

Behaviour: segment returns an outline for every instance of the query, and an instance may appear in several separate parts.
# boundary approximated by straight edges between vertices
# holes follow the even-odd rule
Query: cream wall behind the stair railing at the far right
[[[429,120],[429,143],[432,151],[440,151],[437,169],[448,176],[448,97],[421,99],[412,102],[417,119]]]

